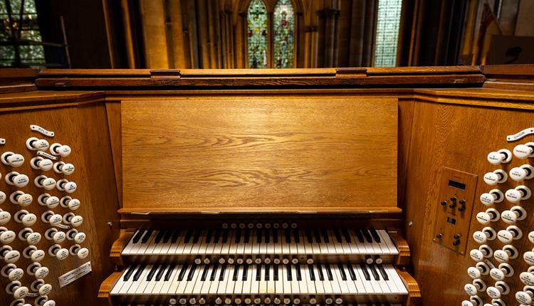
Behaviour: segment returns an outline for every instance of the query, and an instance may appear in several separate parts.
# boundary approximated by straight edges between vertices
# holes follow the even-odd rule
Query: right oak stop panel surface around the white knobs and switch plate
[[[440,297],[439,305],[459,305],[461,300],[467,298],[463,292],[464,284],[472,281],[466,274],[467,268],[474,265],[469,255],[460,255],[432,242],[436,234],[433,232],[434,216],[440,206],[438,191],[442,167],[454,167],[478,174],[476,196],[488,192],[495,186],[485,184],[483,174],[494,169],[508,171],[512,167],[532,162],[514,158],[511,164],[493,166],[486,161],[486,155],[496,149],[513,149],[518,143],[533,141],[534,137],[529,136],[519,142],[506,142],[506,135],[533,126],[533,115],[532,111],[526,110],[445,105],[416,100],[404,202],[406,223],[413,222],[412,226],[406,225],[405,229],[412,250],[415,278],[422,290],[423,305],[436,305],[436,296]],[[518,184],[508,179],[497,188],[506,191]],[[526,185],[534,187],[530,181],[527,181]],[[533,200],[522,201],[521,205],[528,210],[531,201]],[[471,235],[483,227],[475,220],[476,213],[488,207],[483,206],[480,201],[468,205],[473,205],[473,214],[469,233],[464,239],[468,239],[467,250],[471,250],[478,248],[478,243],[473,241]],[[503,211],[511,206],[513,204],[504,201],[494,207]],[[528,213],[526,221],[518,222],[523,233],[528,233],[534,227],[534,218],[530,211]],[[491,223],[491,226],[498,231],[506,228],[507,224],[498,221]],[[498,240],[491,241],[488,245],[493,250],[503,247],[503,243]],[[512,288],[512,293],[503,297],[507,305],[515,305],[513,295],[523,288],[518,279],[518,274],[527,268],[522,254],[533,247],[525,237],[515,241],[513,245],[520,250],[520,256],[511,260],[515,275],[513,278],[506,278],[506,283]],[[496,263],[496,260],[490,259]],[[439,275],[439,282],[436,282],[436,275]],[[489,285],[494,283],[488,276],[484,276],[483,280]],[[489,302],[484,292],[480,292],[480,296],[485,302]]]

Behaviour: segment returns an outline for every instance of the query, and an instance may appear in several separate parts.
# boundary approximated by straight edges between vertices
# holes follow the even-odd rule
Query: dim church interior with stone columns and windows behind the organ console
[[[0,0],[0,65],[534,63],[533,0]]]

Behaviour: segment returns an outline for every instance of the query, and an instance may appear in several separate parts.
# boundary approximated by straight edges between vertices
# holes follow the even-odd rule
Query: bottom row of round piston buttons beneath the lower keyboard
[[[244,303],[246,305],[261,305],[263,304],[275,304],[275,305],[299,305],[300,304],[300,297],[288,297],[288,296],[274,296],[274,297],[216,297],[215,299],[216,305],[239,305],[241,303]],[[315,305],[317,304],[318,300],[315,296],[310,296],[309,304]],[[171,298],[169,299],[169,305],[204,305],[206,304],[206,299],[204,297],[180,297],[179,299]],[[326,305],[333,305],[337,304],[340,305],[343,303],[343,299],[340,296],[334,296],[334,297],[326,297],[325,298],[325,304]]]

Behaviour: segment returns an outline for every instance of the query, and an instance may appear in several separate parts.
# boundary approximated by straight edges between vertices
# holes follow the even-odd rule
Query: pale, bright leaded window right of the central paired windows
[[[375,41],[375,66],[393,67],[397,63],[397,42],[402,0],[379,0]]]

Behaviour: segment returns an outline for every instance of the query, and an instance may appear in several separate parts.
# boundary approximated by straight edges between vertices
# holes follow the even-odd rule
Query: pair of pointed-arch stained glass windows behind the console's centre
[[[263,0],[251,0],[246,20],[248,68],[293,68],[295,9],[291,1],[278,0],[270,11]]]

